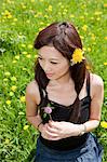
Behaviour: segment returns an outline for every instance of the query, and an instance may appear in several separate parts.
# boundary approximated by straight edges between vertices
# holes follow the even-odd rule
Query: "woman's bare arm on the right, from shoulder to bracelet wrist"
[[[84,123],[86,132],[91,132],[97,127],[101,121],[104,83],[102,78],[97,75],[91,75],[91,98],[90,120]]]

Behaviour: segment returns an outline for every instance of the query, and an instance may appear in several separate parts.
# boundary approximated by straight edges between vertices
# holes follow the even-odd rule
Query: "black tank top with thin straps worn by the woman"
[[[48,97],[48,93],[45,90],[40,89],[40,96],[41,96],[41,102],[38,105],[39,109],[42,107],[46,106],[49,103],[51,104],[54,109],[52,110],[52,119],[54,121],[69,121],[69,118],[71,116],[71,112],[73,111],[73,104],[70,106],[64,106],[61,104],[57,104],[53,100],[50,100]],[[84,123],[89,120],[90,118],[90,104],[91,104],[91,96],[90,96],[90,75],[86,76],[86,93],[88,95],[80,100],[81,104],[81,123]],[[77,100],[77,98],[76,98]],[[76,102],[75,100],[75,102]],[[42,118],[42,116],[41,116]],[[43,123],[46,123],[49,119],[43,120]],[[41,134],[40,134],[40,140],[42,141],[43,145],[45,145],[49,148],[55,149],[55,150],[71,150],[75,148],[80,147],[83,145],[88,138],[89,134],[85,133],[82,136],[71,136],[67,138],[63,138],[59,140],[48,140],[44,139]]]

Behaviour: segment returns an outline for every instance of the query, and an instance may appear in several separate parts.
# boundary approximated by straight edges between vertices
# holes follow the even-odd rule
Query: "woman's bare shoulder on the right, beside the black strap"
[[[104,92],[103,79],[95,73],[91,73],[91,96],[98,95]]]

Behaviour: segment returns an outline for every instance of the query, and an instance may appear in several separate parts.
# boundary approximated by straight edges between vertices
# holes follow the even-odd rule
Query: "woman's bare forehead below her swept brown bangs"
[[[46,58],[57,58],[57,59],[64,58],[62,53],[59,51],[57,51],[54,46],[44,45],[39,50],[38,53],[42,57],[46,57]]]

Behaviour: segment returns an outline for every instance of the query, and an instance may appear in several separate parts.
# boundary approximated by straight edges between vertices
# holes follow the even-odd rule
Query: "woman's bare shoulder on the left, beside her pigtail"
[[[37,104],[39,103],[40,99],[39,86],[35,80],[28,83],[26,87],[26,96],[30,97]]]

